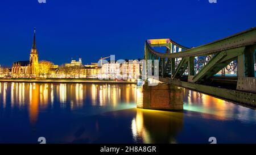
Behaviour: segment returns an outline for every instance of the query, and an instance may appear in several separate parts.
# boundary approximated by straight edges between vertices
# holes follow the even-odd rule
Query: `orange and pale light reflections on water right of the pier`
[[[256,123],[255,110],[196,91],[183,89],[184,110],[199,112],[205,119]]]

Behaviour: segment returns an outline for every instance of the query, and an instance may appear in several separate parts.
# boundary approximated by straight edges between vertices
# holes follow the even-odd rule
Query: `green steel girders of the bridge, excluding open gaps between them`
[[[152,49],[152,47],[156,46],[166,46],[168,49],[165,53],[159,53]],[[169,53],[168,50],[170,48],[169,44],[150,45],[147,41],[145,43],[144,54],[146,56],[144,57],[151,60],[153,56],[160,58],[161,70],[159,75],[162,76],[159,77],[160,81],[256,108],[254,69],[256,27],[177,53]],[[195,73],[195,57],[209,55],[212,55],[210,61],[204,64],[198,73]],[[181,58],[181,61],[175,69],[176,58]],[[206,85],[208,79],[234,60],[237,60],[238,78],[237,83],[233,83],[237,85],[236,90]],[[188,69],[188,81],[184,81],[185,78],[181,78],[186,69]]]

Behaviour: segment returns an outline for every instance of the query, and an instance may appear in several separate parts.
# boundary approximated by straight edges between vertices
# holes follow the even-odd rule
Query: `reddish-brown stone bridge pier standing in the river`
[[[177,86],[167,83],[148,86],[146,82],[138,88],[137,93],[137,108],[183,110],[183,91]]]

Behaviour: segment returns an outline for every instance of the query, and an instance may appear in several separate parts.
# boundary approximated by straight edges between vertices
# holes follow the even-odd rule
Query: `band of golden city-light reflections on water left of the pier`
[[[40,110],[79,110],[86,104],[95,107],[117,107],[121,102],[135,103],[135,85],[107,85],[81,83],[4,83],[0,82],[0,108],[24,110],[27,108],[30,122],[36,123]],[[88,103],[86,103],[88,98]]]

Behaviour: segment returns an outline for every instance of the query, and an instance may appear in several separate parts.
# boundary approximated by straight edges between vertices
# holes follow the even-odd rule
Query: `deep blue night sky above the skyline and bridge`
[[[144,41],[196,47],[256,26],[255,0],[1,0],[0,64],[28,60],[36,27],[39,60],[83,64],[143,57]]]

